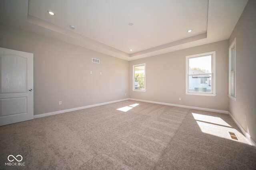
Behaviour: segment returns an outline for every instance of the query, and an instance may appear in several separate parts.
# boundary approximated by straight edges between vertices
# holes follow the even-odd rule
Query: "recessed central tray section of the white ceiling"
[[[74,32],[125,53],[142,51],[207,31],[208,0],[75,2],[30,0],[28,14],[65,29],[75,25]],[[54,11],[56,15],[50,16],[47,10]],[[187,33],[190,28],[193,31]]]

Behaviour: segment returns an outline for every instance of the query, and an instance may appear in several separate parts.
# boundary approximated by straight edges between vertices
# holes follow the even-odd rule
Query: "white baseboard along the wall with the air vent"
[[[80,110],[80,109],[86,109],[86,108],[90,108],[90,107],[95,107],[95,106],[102,106],[105,104],[111,104],[111,103],[116,103],[116,102],[122,102],[124,100],[129,100],[128,98],[126,99],[121,99],[121,100],[114,100],[111,102],[105,102],[105,103],[99,103],[99,104],[92,104],[92,105],[88,105],[88,106],[82,106],[82,107],[76,107],[76,108],[72,108],[72,109],[66,109],[66,110],[60,110],[60,111],[53,111],[50,113],[42,113],[39,115],[34,115],[34,119],[39,118],[39,117],[45,117],[45,116],[50,116],[50,115],[56,115],[56,114],[60,114],[60,113],[66,113],[69,111],[75,111],[75,110]]]

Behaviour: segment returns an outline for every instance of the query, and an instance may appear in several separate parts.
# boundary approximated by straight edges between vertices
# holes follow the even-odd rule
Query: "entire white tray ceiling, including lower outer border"
[[[247,1],[1,0],[0,22],[130,61],[228,39]]]

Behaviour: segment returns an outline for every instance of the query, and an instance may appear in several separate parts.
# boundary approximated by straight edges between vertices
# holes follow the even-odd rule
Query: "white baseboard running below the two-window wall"
[[[132,98],[129,98],[129,100],[135,100],[135,101],[140,101],[140,102],[148,102],[148,103],[154,103],[154,104],[162,104],[162,105],[168,105],[168,106],[184,107],[184,108],[188,108],[188,109],[198,109],[198,110],[212,111],[212,112],[217,112],[217,113],[228,114],[228,111],[226,111],[226,110],[208,109],[208,108],[204,108],[204,107],[194,107],[194,106],[186,106],[186,105],[179,105],[179,104],[154,102],[154,101],[149,101],[149,100],[132,99]]]

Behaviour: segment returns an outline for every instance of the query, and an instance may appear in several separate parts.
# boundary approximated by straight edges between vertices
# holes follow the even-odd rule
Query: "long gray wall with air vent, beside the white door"
[[[128,61],[6,25],[0,47],[34,53],[34,115],[128,98]]]

